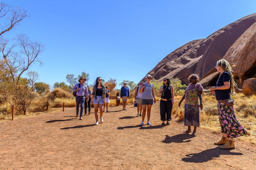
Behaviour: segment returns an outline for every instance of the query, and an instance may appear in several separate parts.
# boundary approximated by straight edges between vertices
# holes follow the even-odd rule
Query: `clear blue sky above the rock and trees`
[[[88,84],[98,76],[138,83],[175,49],[256,12],[254,0],[2,2],[30,15],[4,36],[26,33],[44,45],[43,66],[30,70],[50,85],[82,71],[90,75]]]

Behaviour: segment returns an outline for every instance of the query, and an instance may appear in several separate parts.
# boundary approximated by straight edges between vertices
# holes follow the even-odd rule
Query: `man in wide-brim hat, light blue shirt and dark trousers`
[[[79,112],[79,105],[80,105],[80,120],[83,120],[83,111],[84,111],[84,104],[85,104],[85,96],[88,96],[88,88],[85,85],[86,78],[80,77],[78,80],[78,84],[76,84],[73,88],[73,91],[76,91],[75,101],[76,101],[76,116],[78,118]],[[79,87],[80,86],[80,87]],[[86,102],[88,102],[88,97],[86,97]]]

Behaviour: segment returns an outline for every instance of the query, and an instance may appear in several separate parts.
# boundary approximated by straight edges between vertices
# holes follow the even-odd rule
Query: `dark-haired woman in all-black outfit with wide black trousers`
[[[174,88],[170,84],[170,79],[164,78],[164,85],[162,85],[158,91],[158,94],[161,94],[160,117],[162,120],[162,126],[165,125],[165,121],[166,125],[170,125],[169,121],[171,121],[171,110],[174,103]]]

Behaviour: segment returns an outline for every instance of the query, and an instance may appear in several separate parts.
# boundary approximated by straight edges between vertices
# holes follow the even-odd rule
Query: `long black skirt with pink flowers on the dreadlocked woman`
[[[227,136],[231,138],[248,134],[245,128],[236,119],[233,106],[226,106],[218,101],[218,111],[222,133],[227,134]]]

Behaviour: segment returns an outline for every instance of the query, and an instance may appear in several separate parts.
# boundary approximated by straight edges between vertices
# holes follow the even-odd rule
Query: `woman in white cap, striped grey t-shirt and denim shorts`
[[[142,87],[140,88],[139,92],[142,93],[141,97],[141,105],[142,105],[142,122],[140,125],[144,125],[144,119],[146,116],[146,110],[147,110],[147,125],[151,125],[149,122],[150,119],[150,111],[151,107],[153,105],[153,102],[155,103],[155,91],[154,91],[154,85],[150,83],[151,76],[148,74],[146,76],[146,83],[142,84]]]

